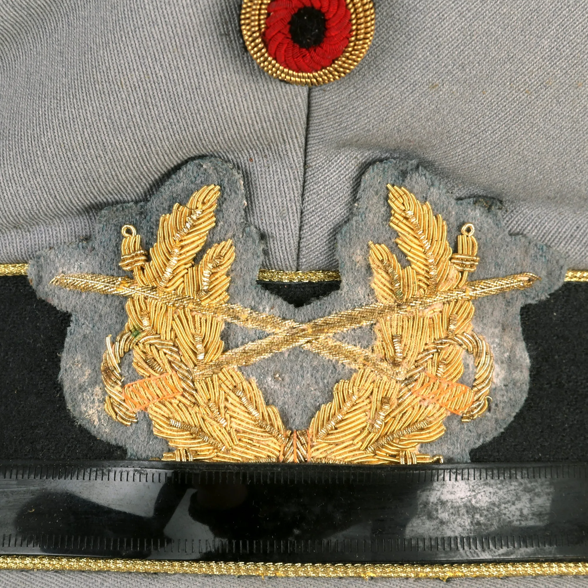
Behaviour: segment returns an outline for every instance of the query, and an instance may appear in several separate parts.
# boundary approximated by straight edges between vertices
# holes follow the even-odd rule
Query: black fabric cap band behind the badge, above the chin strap
[[[266,282],[300,306],[338,282]],[[566,283],[549,299],[523,306],[531,360],[527,399],[506,430],[471,452],[473,462],[588,459],[588,284]],[[0,279],[0,457],[124,459],[122,447],[96,439],[66,407],[59,383],[69,316],[39,300],[24,276]]]

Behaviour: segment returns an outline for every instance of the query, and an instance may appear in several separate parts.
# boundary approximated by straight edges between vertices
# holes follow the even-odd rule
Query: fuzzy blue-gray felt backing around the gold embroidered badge
[[[48,249],[31,262],[29,279],[38,295],[72,314],[61,358],[60,378],[69,410],[93,435],[125,447],[129,457],[133,458],[159,457],[168,450],[164,440],[153,436],[151,422],[144,413],[138,423],[125,427],[112,420],[103,409],[105,390],[100,364],[104,340],[108,335],[116,335],[125,325],[125,300],[117,296],[69,291],[49,285],[49,282],[59,273],[121,275],[118,261],[122,225],[135,225],[145,246],[152,246],[159,217],[171,211],[175,202],[187,202],[196,189],[212,183],[221,187],[217,222],[199,256],[212,243],[233,239],[236,260],[230,270],[230,302],[260,312],[306,322],[375,301],[370,286],[372,271],[368,262],[368,242],[385,243],[402,259],[402,253],[394,243],[396,235],[388,226],[387,183],[405,186],[421,201],[430,202],[433,211],[445,219],[452,245],[465,223],[475,225],[481,258],[476,279],[522,271],[542,276],[543,279],[529,290],[490,296],[475,302],[474,328],[487,339],[495,355],[491,410],[471,423],[449,417],[445,421],[445,436],[422,446],[421,450],[441,453],[449,462],[467,462],[470,449],[492,439],[513,419],[524,402],[529,385],[529,357],[522,338],[519,309],[523,304],[545,298],[562,285],[567,266],[562,256],[529,238],[510,235],[500,211],[489,206],[489,201],[456,200],[456,193],[461,192],[456,191],[455,186],[440,181],[417,163],[384,161],[370,166],[363,175],[352,217],[338,233],[336,255],[342,279],[340,289],[302,308],[295,308],[256,284],[263,262],[264,242],[258,230],[245,220],[248,201],[243,178],[233,166],[207,158],[183,165],[162,183],[148,202],[104,209],[88,240]],[[222,338],[225,349],[230,349],[262,335],[236,325],[225,325]],[[369,328],[356,329],[339,337],[362,346],[373,342]],[[130,357],[125,359],[126,381],[137,379]],[[300,429],[308,427],[322,403],[329,402],[335,383],[353,373],[350,368],[302,349],[273,355],[242,371],[246,377],[255,378],[266,402],[278,407],[285,425]],[[472,370],[466,370],[465,383],[471,383],[472,376]]]

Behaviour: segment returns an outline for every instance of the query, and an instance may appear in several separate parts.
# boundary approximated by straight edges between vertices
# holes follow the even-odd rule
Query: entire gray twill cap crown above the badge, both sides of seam
[[[242,174],[267,268],[336,268],[360,179],[390,157],[588,267],[586,2],[374,4],[365,58],[309,89],[253,61],[238,0],[0,2],[0,262],[213,155]]]

